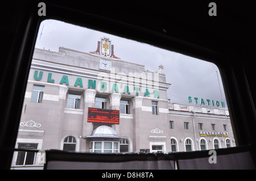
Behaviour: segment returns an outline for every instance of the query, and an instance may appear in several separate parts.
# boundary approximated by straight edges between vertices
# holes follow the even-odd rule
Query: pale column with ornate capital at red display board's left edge
[[[88,107],[94,107],[95,105],[96,90],[87,89],[84,91],[84,123],[82,124],[82,137],[89,136],[93,131],[93,123],[88,123]],[[90,142],[82,139],[81,151],[89,151]]]

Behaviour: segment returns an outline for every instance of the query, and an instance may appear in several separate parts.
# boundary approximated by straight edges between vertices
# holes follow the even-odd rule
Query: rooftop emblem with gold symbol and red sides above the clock
[[[105,36],[102,37],[100,41],[98,41],[97,50],[95,52],[89,53],[120,59],[114,55],[114,45],[112,45],[111,40]]]

